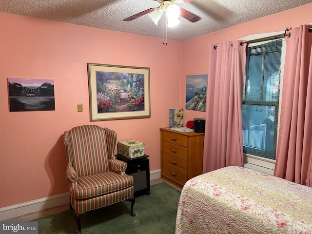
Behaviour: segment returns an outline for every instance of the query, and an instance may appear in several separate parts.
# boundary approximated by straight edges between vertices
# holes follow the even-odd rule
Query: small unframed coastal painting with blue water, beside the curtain
[[[206,111],[208,75],[186,76],[185,109]]]

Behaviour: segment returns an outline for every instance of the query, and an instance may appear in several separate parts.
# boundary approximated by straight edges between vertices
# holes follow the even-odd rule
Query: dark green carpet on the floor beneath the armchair
[[[180,191],[162,182],[151,186],[151,195],[136,198],[135,217],[130,201],[86,212],[81,234],[174,234]],[[38,218],[39,234],[75,234],[74,210]]]

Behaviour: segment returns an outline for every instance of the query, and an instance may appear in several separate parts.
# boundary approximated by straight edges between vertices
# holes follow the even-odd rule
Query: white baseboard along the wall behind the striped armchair
[[[160,169],[150,172],[150,180],[160,179]],[[9,218],[39,212],[48,208],[53,208],[69,203],[69,193],[48,196],[32,201],[23,202],[11,206],[0,208],[0,221]]]

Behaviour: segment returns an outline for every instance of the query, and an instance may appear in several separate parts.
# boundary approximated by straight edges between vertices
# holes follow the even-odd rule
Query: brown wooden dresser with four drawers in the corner
[[[161,128],[161,178],[182,188],[202,174],[204,133],[181,133]]]

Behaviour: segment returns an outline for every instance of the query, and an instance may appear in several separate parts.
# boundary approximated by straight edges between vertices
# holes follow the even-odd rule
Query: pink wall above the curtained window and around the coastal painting
[[[312,23],[312,3],[282,13],[253,20],[234,27],[220,30],[204,36],[182,42],[181,97],[185,97],[187,75],[208,74],[210,45],[218,42],[232,41],[252,34],[285,31],[286,27]],[[207,25],[209,27],[209,25]],[[185,99],[181,98],[181,106]],[[184,119],[206,118],[205,113],[185,110]]]

